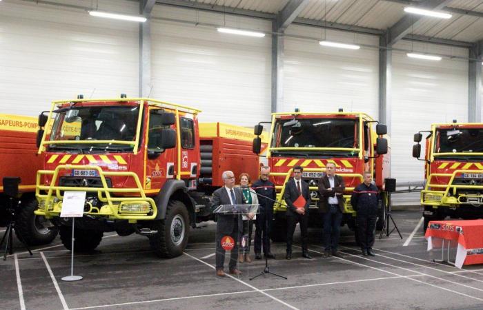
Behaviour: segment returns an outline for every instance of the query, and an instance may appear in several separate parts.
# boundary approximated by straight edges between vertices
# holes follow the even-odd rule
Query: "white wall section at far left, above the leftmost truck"
[[[110,5],[112,4],[112,5]],[[132,8],[132,1],[103,8]],[[26,1],[0,2],[0,111],[37,115],[50,101],[136,96],[138,25]]]

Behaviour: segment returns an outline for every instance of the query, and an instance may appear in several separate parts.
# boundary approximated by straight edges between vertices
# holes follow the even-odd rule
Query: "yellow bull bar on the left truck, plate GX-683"
[[[59,171],[61,169],[92,169],[96,170],[99,174],[99,178],[102,183],[102,187],[70,187],[70,186],[57,186],[57,179],[59,178]],[[44,175],[52,175],[50,185],[42,185],[41,179]],[[106,176],[128,176],[135,180],[137,187],[132,188],[110,188],[106,182]],[[46,191],[47,194],[41,194],[41,191]],[[39,216],[46,216],[46,218],[52,218],[59,216],[62,209],[63,195],[61,191],[72,192],[97,192],[97,197],[104,203],[99,209],[87,202],[89,206],[88,211],[84,211],[83,214],[91,216],[105,216],[109,219],[129,220],[129,223],[136,223],[137,220],[152,220],[157,216],[157,207],[155,200],[150,197],[146,197],[144,189],[141,186],[141,182],[137,174],[134,172],[104,172],[101,167],[94,165],[59,165],[55,170],[39,170],[37,172],[37,185],[35,187],[35,196],[39,201],[39,209],[35,211],[35,214]],[[112,197],[111,193],[139,193],[139,197]],[[123,205],[146,205],[149,207],[146,211],[123,211],[121,207]]]

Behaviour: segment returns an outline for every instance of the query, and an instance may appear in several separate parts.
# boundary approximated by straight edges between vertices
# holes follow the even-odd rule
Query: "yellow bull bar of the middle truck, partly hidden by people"
[[[325,171],[326,171],[325,168],[304,168],[304,172],[325,172]],[[280,192],[277,193],[277,202],[273,206],[273,209],[275,211],[286,210],[286,207],[284,206],[286,205],[286,203],[284,201],[284,205],[282,205],[282,200],[284,200],[283,197],[285,194],[285,185],[290,179],[292,172],[293,172],[293,168],[290,168],[288,172],[270,172],[270,176],[285,176],[284,185],[275,186],[275,189],[280,189]],[[342,176],[344,178],[359,178],[361,183],[364,180],[364,177],[362,176],[362,174],[337,174],[337,175]],[[309,186],[308,189],[318,191],[319,187]],[[346,192],[353,192],[353,190],[354,190],[354,187],[346,187]],[[348,194],[348,195],[344,195],[343,197],[344,197],[344,213],[355,214],[355,211],[351,205],[351,195]],[[313,199],[313,201],[318,201],[318,200],[319,198]]]

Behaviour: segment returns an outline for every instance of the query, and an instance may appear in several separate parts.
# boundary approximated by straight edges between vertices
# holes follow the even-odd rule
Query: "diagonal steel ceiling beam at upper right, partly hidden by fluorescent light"
[[[426,0],[421,1],[417,8],[426,10],[440,10],[444,8],[451,0]],[[391,28],[388,29],[388,45],[393,45],[400,39],[404,38],[406,34],[411,32],[413,26],[422,19],[422,15],[404,14],[404,17],[397,21]]]

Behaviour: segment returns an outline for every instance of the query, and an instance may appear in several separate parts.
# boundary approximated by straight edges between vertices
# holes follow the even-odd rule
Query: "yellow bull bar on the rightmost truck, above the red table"
[[[483,185],[455,185],[453,180],[457,174],[471,173],[471,174],[483,174],[483,170],[468,170],[468,169],[457,169],[450,174],[430,174],[428,176],[428,181],[424,190],[421,191],[421,204],[422,205],[432,205],[432,206],[449,206],[449,205],[463,205],[471,204],[468,200],[462,202],[462,198],[466,199],[477,199],[483,202],[483,194],[460,194],[456,196],[457,189],[480,189],[483,192]],[[433,184],[431,183],[433,177],[444,176],[449,177],[449,181],[446,184]],[[430,189],[431,188],[431,189]],[[435,188],[440,188],[441,190],[435,190]],[[452,195],[449,196],[449,191],[452,190]]]

